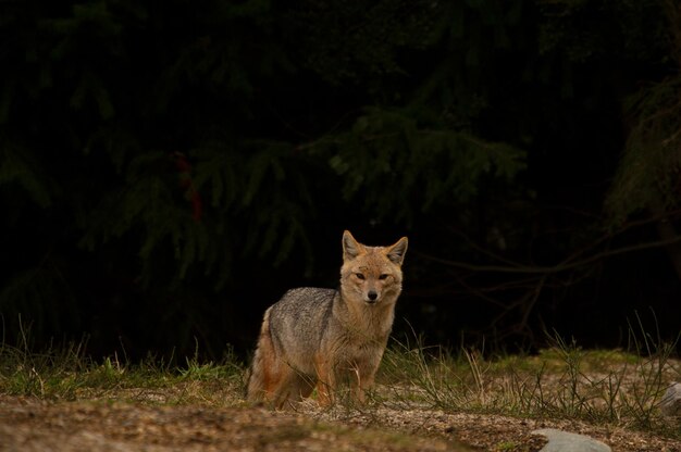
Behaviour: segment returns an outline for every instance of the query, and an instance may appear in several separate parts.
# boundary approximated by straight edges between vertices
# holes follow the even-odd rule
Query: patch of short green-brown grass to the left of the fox
[[[195,354],[184,366],[171,366],[152,355],[135,364],[117,354],[98,362],[84,354],[82,343],[36,353],[25,335],[17,342],[0,344],[0,394],[182,404],[216,403],[225,392],[228,401],[243,392],[244,366],[231,350],[220,363],[199,363]]]

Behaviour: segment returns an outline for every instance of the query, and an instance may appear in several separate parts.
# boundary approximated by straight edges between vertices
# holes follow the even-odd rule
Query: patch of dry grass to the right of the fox
[[[660,399],[681,380],[676,343],[632,335],[631,350],[582,350],[557,335],[537,355],[484,359],[462,349],[453,355],[420,343],[386,352],[382,391],[374,397],[397,406],[479,412],[534,418],[578,418],[652,430],[681,439],[678,424],[664,418]]]

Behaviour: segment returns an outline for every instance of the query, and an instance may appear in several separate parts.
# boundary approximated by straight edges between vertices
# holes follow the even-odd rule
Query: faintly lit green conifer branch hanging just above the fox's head
[[[485,180],[511,181],[524,170],[523,151],[467,133],[420,126],[406,112],[368,109],[352,128],[315,143],[348,200],[363,200],[375,219],[414,217],[470,202]]]

